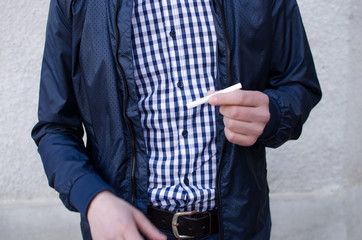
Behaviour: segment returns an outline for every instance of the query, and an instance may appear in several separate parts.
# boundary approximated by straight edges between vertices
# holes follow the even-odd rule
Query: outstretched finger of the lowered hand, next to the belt
[[[162,234],[160,230],[158,230],[158,228],[156,228],[142,212],[134,210],[133,218],[138,229],[150,240],[167,239],[166,236]]]

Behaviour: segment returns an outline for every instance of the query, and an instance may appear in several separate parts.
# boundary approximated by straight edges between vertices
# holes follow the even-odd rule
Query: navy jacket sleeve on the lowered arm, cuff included
[[[64,205],[86,216],[92,198],[111,190],[86,155],[83,127],[72,86],[72,29],[64,2],[52,0],[39,93],[39,122],[32,130],[49,185]],[[69,9],[69,8],[68,8]]]

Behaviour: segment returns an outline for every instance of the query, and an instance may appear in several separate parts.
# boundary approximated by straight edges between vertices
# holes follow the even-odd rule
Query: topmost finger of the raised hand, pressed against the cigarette
[[[215,94],[210,97],[209,104],[216,106],[241,105],[258,107],[269,104],[269,97],[259,91],[237,90],[230,93]]]

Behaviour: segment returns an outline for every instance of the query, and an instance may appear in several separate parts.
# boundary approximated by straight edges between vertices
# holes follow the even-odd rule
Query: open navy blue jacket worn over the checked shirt
[[[268,239],[265,147],[299,137],[321,91],[295,0],[214,0],[216,88],[241,82],[270,99],[271,120],[252,147],[225,140],[217,113],[220,239]],[[137,109],[131,0],[51,0],[32,131],[49,185],[82,216],[111,190],[146,211],[148,162]],[[86,144],[83,131],[86,131]]]

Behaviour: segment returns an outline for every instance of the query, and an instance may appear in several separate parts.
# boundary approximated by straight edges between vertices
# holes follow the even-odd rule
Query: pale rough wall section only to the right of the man
[[[298,141],[269,150],[273,239],[361,239],[362,1],[300,0],[323,89]]]

